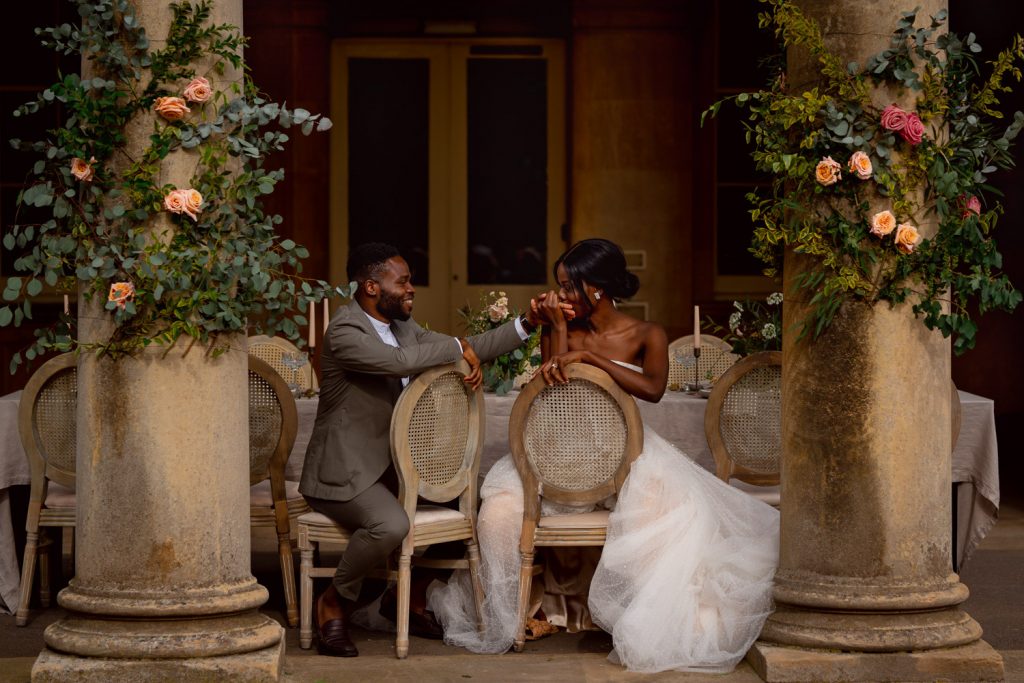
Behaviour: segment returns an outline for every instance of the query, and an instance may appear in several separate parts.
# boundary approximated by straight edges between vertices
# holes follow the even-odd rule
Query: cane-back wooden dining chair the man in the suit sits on
[[[470,390],[463,381],[468,373],[469,366],[463,360],[426,371],[409,383],[392,412],[391,459],[398,475],[398,502],[410,520],[409,533],[397,553],[397,571],[389,572],[398,585],[398,658],[409,654],[413,564],[468,568],[477,618],[482,614],[476,503],[485,413],[483,394]],[[454,501],[459,502],[458,509],[437,505]],[[347,541],[348,532],[318,512],[299,518],[301,647],[312,644],[312,580],[333,577],[335,571],[334,567],[314,567],[313,551],[319,543],[344,546]],[[414,556],[417,549],[451,541],[466,544],[464,558]]]

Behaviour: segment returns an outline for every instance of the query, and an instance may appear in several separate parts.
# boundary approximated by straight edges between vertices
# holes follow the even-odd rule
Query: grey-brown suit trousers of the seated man
[[[347,600],[354,602],[358,598],[364,578],[384,562],[409,533],[409,516],[386,483],[393,476],[385,473],[350,501],[306,496],[309,507],[351,533],[333,580],[338,595]]]

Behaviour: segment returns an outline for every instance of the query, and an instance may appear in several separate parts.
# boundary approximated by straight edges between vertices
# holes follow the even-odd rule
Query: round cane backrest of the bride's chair
[[[604,371],[565,369],[568,383],[536,377],[519,392],[509,418],[509,445],[523,482],[527,517],[540,498],[588,505],[618,492],[643,450],[643,422],[633,396]]]

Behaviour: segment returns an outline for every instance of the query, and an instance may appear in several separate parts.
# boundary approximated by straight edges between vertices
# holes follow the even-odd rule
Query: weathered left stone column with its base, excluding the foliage
[[[159,49],[169,5],[139,0],[137,11]],[[217,0],[211,20],[241,27],[242,1]],[[130,156],[152,128],[148,113],[129,126]],[[189,186],[195,154],[172,154],[158,181]],[[153,227],[159,239],[171,223]],[[80,297],[79,311],[82,341],[110,337],[101,301]],[[81,355],[76,575],[33,681],[280,679],[284,630],[257,611],[267,592],[250,569],[246,339],[217,357],[190,342]]]

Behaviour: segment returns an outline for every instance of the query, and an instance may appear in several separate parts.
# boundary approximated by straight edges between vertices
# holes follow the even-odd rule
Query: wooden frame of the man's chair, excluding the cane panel
[[[480,470],[480,454],[483,450],[484,419],[483,394],[476,390],[469,395],[468,432],[466,451],[459,470],[444,484],[435,485],[424,481],[416,468],[413,459],[413,445],[410,442],[410,423],[421,396],[429,386],[443,375],[456,373],[461,378],[469,374],[469,366],[460,360],[432,368],[409,383],[395,402],[391,418],[391,460],[398,475],[398,503],[409,516],[409,533],[399,547],[397,570],[388,572],[388,577],[397,582],[397,635],[395,637],[395,656],[404,658],[409,655],[409,608],[412,580],[412,565],[444,568],[468,568],[473,584],[473,594],[476,601],[477,615],[482,614],[483,589],[479,578],[479,546],[476,539],[476,503],[477,477]],[[433,503],[450,503],[459,501],[458,513],[446,515],[447,518],[431,522],[417,522],[417,510],[421,509],[420,499]],[[456,511],[453,510],[453,513]],[[308,515],[299,519],[299,552],[300,562],[300,593],[301,613],[299,627],[299,645],[309,648],[312,645],[312,580],[314,578],[333,577],[334,567],[313,566],[313,552],[321,543],[346,546],[349,533],[336,524],[326,524],[321,515]],[[464,559],[439,559],[414,557],[417,548],[463,541],[466,544]],[[482,628],[482,624],[480,624]]]

